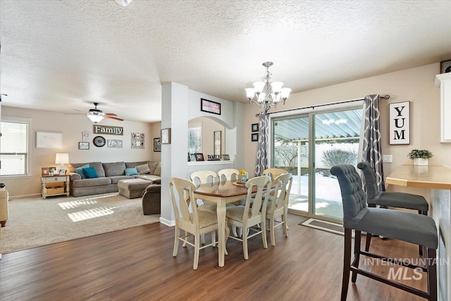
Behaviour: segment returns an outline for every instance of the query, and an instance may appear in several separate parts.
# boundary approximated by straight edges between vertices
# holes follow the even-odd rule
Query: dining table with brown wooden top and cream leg
[[[254,187],[257,191],[257,187]],[[226,204],[245,199],[247,188],[230,180],[200,184],[194,190],[194,197],[216,203],[218,216],[218,266],[224,266],[226,253]]]

